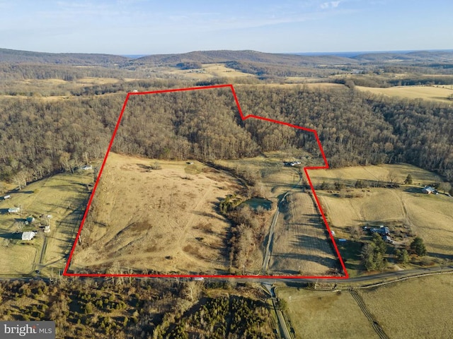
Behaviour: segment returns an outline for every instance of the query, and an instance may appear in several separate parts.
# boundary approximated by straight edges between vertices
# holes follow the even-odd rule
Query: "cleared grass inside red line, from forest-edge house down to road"
[[[302,162],[300,165],[283,166],[284,161],[297,159]],[[273,201],[273,206],[277,206],[280,198],[290,192],[287,203],[281,204],[275,226],[268,273],[331,275],[331,270],[336,268],[338,260],[330,240],[326,238],[326,226],[320,219],[313,198],[301,188],[302,167],[313,165],[316,161],[319,164],[319,160],[311,160],[302,150],[219,161],[221,165],[236,169],[236,172],[255,174],[260,196]]]

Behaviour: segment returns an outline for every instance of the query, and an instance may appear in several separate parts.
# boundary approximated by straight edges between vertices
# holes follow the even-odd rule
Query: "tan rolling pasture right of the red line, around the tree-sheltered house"
[[[445,194],[428,196],[421,193],[421,185],[442,182],[436,174],[411,165],[346,167],[311,171],[310,174],[316,186],[322,183],[330,186],[326,190],[318,189],[316,194],[336,237],[351,239],[350,227],[354,226],[386,225],[390,227],[391,237],[398,240],[398,245],[407,246],[413,236],[418,235],[425,242],[429,256],[452,256],[453,198]],[[402,183],[408,174],[413,177],[414,185],[394,189],[354,188],[357,179],[373,184],[387,182],[391,177],[394,182]],[[336,191],[333,189],[335,182],[345,184],[345,188]],[[409,237],[404,238],[404,234]],[[343,247],[349,248],[348,244]],[[350,250],[357,251],[352,247]],[[348,264],[353,263],[350,261]]]

